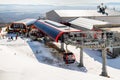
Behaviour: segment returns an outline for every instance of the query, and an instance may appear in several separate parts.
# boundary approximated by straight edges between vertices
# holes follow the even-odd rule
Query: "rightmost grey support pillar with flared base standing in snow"
[[[109,77],[106,68],[106,51],[102,49],[102,73],[101,76]]]

